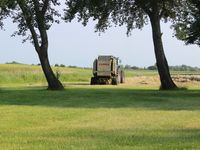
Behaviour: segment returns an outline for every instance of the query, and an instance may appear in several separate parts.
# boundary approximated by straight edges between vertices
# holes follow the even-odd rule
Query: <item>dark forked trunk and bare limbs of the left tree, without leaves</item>
[[[29,14],[30,13],[29,6],[25,4],[25,1],[17,0],[17,3],[19,4],[23,12],[27,26],[31,32],[35,50],[38,53],[42,70],[48,82],[48,89],[49,90],[63,90],[64,87],[62,83],[58,80],[58,78],[56,78],[49,64],[48,36],[47,36],[47,28],[46,28],[46,23],[45,23],[45,13],[49,5],[49,0],[45,0],[43,2],[44,2],[44,5],[41,9],[40,2],[37,0],[33,1],[34,11],[35,11],[33,13],[35,13],[36,15],[36,18],[34,18],[33,17],[34,15]],[[35,25],[34,19],[36,19],[37,25]],[[39,36],[41,40],[39,40],[38,34],[35,28],[38,28]]]

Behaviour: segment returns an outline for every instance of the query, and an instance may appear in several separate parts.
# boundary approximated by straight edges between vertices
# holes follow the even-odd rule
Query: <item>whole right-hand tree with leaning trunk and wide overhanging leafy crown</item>
[[[115,25],[126,25],[127,34],[133,29],[141,29],[150,21],[154,42],[156,64],[160,75],[161,89],[176,88],[170,76],[165,57],[160,22],[175,18],[177,0],[67,0],[65,20],[78,21],[87,25],[90,18],[97,20],[96,31],[105,31]]]

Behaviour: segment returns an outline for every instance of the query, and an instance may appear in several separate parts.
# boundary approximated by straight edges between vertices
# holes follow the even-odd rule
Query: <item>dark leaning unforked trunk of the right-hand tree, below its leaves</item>
[[[169,72],[169,66],[164,53],[159,15],[156,13],[152,14],[150,16],[150,21],[153,34],[156,64],[161,81],[161,89],[167,90],[167,89],[177,88],[176,84],[173,82],[171,78]]]

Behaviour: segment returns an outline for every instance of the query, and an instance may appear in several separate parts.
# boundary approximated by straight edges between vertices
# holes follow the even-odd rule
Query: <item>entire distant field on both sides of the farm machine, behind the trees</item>
[[[62,83],[89,84],[91,69],[53,67],[59,73]],[[200,72],[171,72],[174,81],[180,87],[196,89],[200,87]],[[145,89],[158,89],[160,86],[157,71],[125,70],[126,83],[120,86]],[[40,66],[0,64],[0,87],[45,86],[46,80]]]

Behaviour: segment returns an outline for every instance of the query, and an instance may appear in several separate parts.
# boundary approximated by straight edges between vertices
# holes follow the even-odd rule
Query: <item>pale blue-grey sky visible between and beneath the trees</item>
[[[48,31],[49,60],[51,65],[92,67],[98,55],[119,57],[123,65],[148,67],[154,65],[155,55],[151,26],[142,30],[135,29],[131,36],[126,35],[125,27],[111,27],[105,33],[95,33],[95,24],[89,22],[83,27],[81,23],[55,24]],[[0,30],[0,63],[17,61],[24,64],[38,64],[39,59],[33,45],[22,37],[11,37],[16,30],[11,21],[5,22],[5,30]],[[200,47],[186,46],[184,42],[173,37],[170,24],[162,23],[163,45],[169,65],[190,65],[200,67]]]

